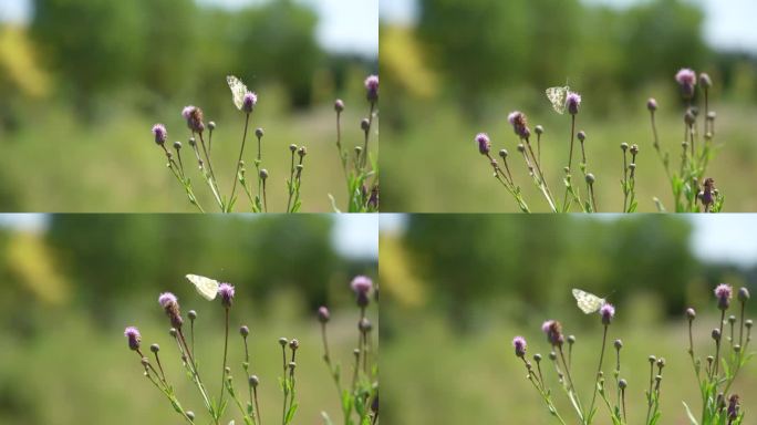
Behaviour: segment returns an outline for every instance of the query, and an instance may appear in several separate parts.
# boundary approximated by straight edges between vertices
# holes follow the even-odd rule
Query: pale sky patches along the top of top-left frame
[[[118,0],[114,0],[118,1]],[[270,0],[198,0],[230,10]],[[298,0],[312,7],[320,17],[318,39],[333,52],[378,54],[380,0]],[[0,21],[27,22],[31,18],[31,0],[0,0]]]

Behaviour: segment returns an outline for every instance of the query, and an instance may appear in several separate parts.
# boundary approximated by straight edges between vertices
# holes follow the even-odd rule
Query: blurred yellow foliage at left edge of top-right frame
[[[382,28],[380,43],[382,73],[392,75],[393,84],[409,96],[436,95],[439,79],[426,66],[425,51],[411,28]]]

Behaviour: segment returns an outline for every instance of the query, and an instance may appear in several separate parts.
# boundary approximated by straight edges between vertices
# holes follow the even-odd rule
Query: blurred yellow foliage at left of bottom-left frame
[[[58,273],[55,258],[41,234],[14,234],[9,240],[7,255],[10,272],[38,300],[53,305],[69,300],[69,282]]]

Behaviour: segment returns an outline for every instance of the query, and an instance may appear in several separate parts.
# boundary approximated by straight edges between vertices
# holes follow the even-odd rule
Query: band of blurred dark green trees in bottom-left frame
[[[191,293],[187,273],[229,281],[239,297],[266,299],[297,289],[318,307],[342,267],[331,246],[329,217],[209,218],[175,216],[52,216],[48,240],[77,301],[101,320],[125,298]],[[241,290],[243,288],[243,290]]]

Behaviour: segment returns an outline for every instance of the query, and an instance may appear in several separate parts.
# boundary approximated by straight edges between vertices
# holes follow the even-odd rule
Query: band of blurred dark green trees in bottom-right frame
[[[663,298],[668,313],[683,310],[696,272],[687,221],[512,218],[412,216],[405,242],[434,289],[428,293],[454,323],[465,326],[477,307],[502,297],[522,305],[564,304],[577,287],[612,294],[613,303],[646,290]]]

